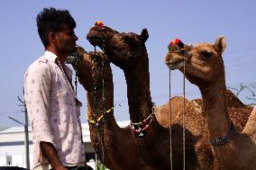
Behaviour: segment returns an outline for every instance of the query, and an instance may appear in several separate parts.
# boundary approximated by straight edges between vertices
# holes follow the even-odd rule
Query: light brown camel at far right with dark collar
[[[224,49],[224,37],[219,37],[215,44],[199,43],[194,47],[185,45],[184,48],[175,44],[170,48],[165,62],[170,69],[182,71],[185,61],[187,80],[199,87],[208,138],[220,168],[256,169],[256,109],[251,112],[242,132],[235,130],[235,122],[228,112],[230,99],[226,94],[222,58]]]

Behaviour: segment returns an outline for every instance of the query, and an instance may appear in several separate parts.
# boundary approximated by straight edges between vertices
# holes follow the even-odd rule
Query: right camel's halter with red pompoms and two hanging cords
[[[178,45],[178,47],[180,49],[184,49],[184,43],[181,41],[181,40],[178,40],[178,39],[175,39],[175,40],[171,40],[169,42],[169,45],[168,45],[168,49],[170,50],[171,47],[173,45]],[[186,86],[185,86],[185,73],[186,73],[186,67],[185,67],[185,59],[183,59],[183,110],[182,110],[182,139],[183,139],[183,169],[185,170],[186,169],[186,166],[185,166],[185,163],[186,163],[186,148],[185,148],[185,97],[186,97],[186,94],[185,94],[185,90],[186,90]],[[170,68],[169,68],[169,100],[170,100],[170,95],[171,95],[171,84],[170,84]],[[171,103],[169,101],[169,121],[170,121],[170,126],[169,126],[169,148],[170,148],[170,169],[172,170],[172,135],[171,135]]]

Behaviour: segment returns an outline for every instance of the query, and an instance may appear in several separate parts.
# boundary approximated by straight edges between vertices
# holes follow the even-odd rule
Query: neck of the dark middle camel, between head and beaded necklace
[[[146,53],[144,55],[147,55]],[[139,122],[151,114],[149,59],[143,56],[131,69],[124,69],[130,120]]]

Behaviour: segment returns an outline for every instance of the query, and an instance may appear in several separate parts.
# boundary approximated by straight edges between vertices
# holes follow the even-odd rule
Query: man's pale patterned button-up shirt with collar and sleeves
[[[79,119],[81,103],[69,83],[71,80],[71,69],[65,65],[62,68],[50,51],[45,51],[25,73],[24,97],[32,124],[33,167],[49,164],[42,154],[41,141],[56,148],[64,166],[86,163]]]

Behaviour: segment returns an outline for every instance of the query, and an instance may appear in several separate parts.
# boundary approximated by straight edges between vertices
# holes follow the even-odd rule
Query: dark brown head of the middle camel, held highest
[[[104,26],[104,28],[95,25],[87,33],[87,40],[94,46],[99,46],[105,51],[115,66],[131,68],[142,59],[145,51],[145,42],[149,34],[146,29],[142,30],[140,35],[129,32],[120,33]],[[148,59],[148,58],[147,58]]]

